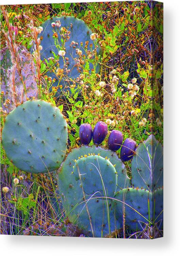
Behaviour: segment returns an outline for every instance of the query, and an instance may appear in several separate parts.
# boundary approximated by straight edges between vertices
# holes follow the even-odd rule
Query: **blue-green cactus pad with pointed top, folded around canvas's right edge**
[[[131,172],[134,187],[153,191],[163,186],[163,147],[153,135],[137,147]]]

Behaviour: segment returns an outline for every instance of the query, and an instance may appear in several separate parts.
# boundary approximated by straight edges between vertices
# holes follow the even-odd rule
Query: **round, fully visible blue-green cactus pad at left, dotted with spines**
[[[60,110],[44,100],[29,100],[6,116],[2,145],[20,170],[58,169],[66,153],[67,123]]]

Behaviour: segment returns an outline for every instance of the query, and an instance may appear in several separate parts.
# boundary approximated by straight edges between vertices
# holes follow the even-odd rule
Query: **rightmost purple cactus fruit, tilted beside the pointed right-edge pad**
[[[126,139],[121,147],[120,158],[123,162],[130,160],[136,149],[136,142],[132,139]]]

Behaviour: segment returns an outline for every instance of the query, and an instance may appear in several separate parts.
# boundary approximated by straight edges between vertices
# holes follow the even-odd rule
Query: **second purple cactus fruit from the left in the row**
[[[108,133],[108,126],[104,122],[100,121],[94,127],[93,130],[93,142],[97,145],[101,144]]]

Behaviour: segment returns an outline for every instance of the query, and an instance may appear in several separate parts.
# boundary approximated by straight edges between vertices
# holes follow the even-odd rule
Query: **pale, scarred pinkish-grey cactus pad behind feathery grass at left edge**
[[[19,103],[26,101],[27,98],[38,97],[35,79],[36,68],[33,57],[24,46],[18,46],[16,52],[23,82],[26,86],[26,94],[17,66],[12,65],[11,54],[7,47],[5,47],[1,50],[1,91],[4,92],[1,104],[7,112],[12,111]],[[6,100],[10,100],[10,102]]]

